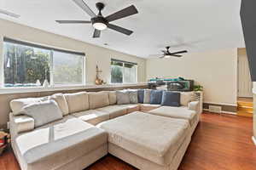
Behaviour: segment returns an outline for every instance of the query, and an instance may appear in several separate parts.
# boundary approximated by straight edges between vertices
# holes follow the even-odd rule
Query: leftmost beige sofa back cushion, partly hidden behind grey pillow
[[[26,99],[13,99],[10,102],[10,108],[14,116],[19,116],[23,114],[23,107],[26,105],[40,103],[42,101],[48,100],[48,97],[43,98],[26,98]]]

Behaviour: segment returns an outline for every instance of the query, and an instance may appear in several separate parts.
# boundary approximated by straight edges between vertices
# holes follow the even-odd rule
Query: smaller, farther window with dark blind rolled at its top
[[[137,64],[111,59],[111,83],[137,82]]]

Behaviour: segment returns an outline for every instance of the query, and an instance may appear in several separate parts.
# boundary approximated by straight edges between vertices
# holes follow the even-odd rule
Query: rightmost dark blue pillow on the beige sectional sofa
[[[179,107],[180,93],[164,91],[161,105]]]

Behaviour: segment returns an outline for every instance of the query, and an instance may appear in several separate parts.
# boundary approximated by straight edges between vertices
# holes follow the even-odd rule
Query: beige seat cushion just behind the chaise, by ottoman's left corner
[[[89,122],[92,125],[109,120],[109,114],[107,112],[96,110],[80,111],[74,113],[72,116],[78,117],[82,121]]]

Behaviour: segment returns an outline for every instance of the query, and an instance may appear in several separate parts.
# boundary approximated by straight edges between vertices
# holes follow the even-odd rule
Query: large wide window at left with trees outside
[[[84,84],[84,54],[4,38],[4,87]]]

